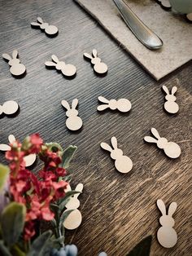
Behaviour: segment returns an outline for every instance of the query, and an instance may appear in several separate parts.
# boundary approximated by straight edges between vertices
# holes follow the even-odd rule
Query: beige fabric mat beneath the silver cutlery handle
[[[158,51],[142,45],[121,19],[112,0],[75,0],[151,73],[156,80],[192,59],[192,24],[164,11],[154,0],[126,1],[135,14],[164,41]]]

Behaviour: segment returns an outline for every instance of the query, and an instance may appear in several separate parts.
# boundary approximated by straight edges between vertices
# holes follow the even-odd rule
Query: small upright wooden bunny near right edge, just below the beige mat
[[[176,96],[174,94],[177,91],[177,86],[172,87],[172,94],[169,94],[168,87],[167,86],[162,86],[163,90],[166,92],[165,99],[167,100],[164,104],[164,109],[171,114],[175,114],[179,111],[179,106],[175,102],[176,101]]]

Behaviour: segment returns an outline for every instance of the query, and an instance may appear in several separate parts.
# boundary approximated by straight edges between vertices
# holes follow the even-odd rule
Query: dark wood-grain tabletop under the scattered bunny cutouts
[[[79,255],[96,256],[102,250],[108,256],[124,256],[138,241],[153,236],[151,256],[192,254],[191,211],[191,86],[192,64],[186,64],[159,82],[144,71],[107,33],[71,0],[0,1],[1,54],[20,52],[27,68],[22,79],[11,77],[9,66],[1,61],[0,104],[16,100],[17,117],[0,119],[0,141],[7,136],[24,139],[40,133],[46,142],[56,141],[67,147],[75,144],[78,152],[72,169],[72,184],[84,183],[79,197],[83,222],[75,231],[66,232],[66,242],[79,248]],[[56,38],[48,38],[30,23],[37,15],[59,28]],[[98,50],[108,65],[106,77],[97,77],[83,52]],[[77,75],[65,79],[45,68],[55,54],[76,65]],[[169,116],[163,110],[164,93],[160,87],[178,86],[180,113]],[[97,112],[98,96],[127,98],[133,108],[129,114]],[[72,133],[65,126],[61,99],[79,99],[83,129]],[[144,143],[151,127],[181,146],[181,157],[168,159],[153,144]],[[133,160],[133,170],[120,174],[108,152],[99,144],[109,143],[116,135],[124,154]],[[3,154],[0,160],[5,162]],[[37,167],[36,167],[37,168]],[[176,201],[174,214],[178,242],[164,249],[156,239],[160,213],[155,202],[162,198],[168,205]]]

